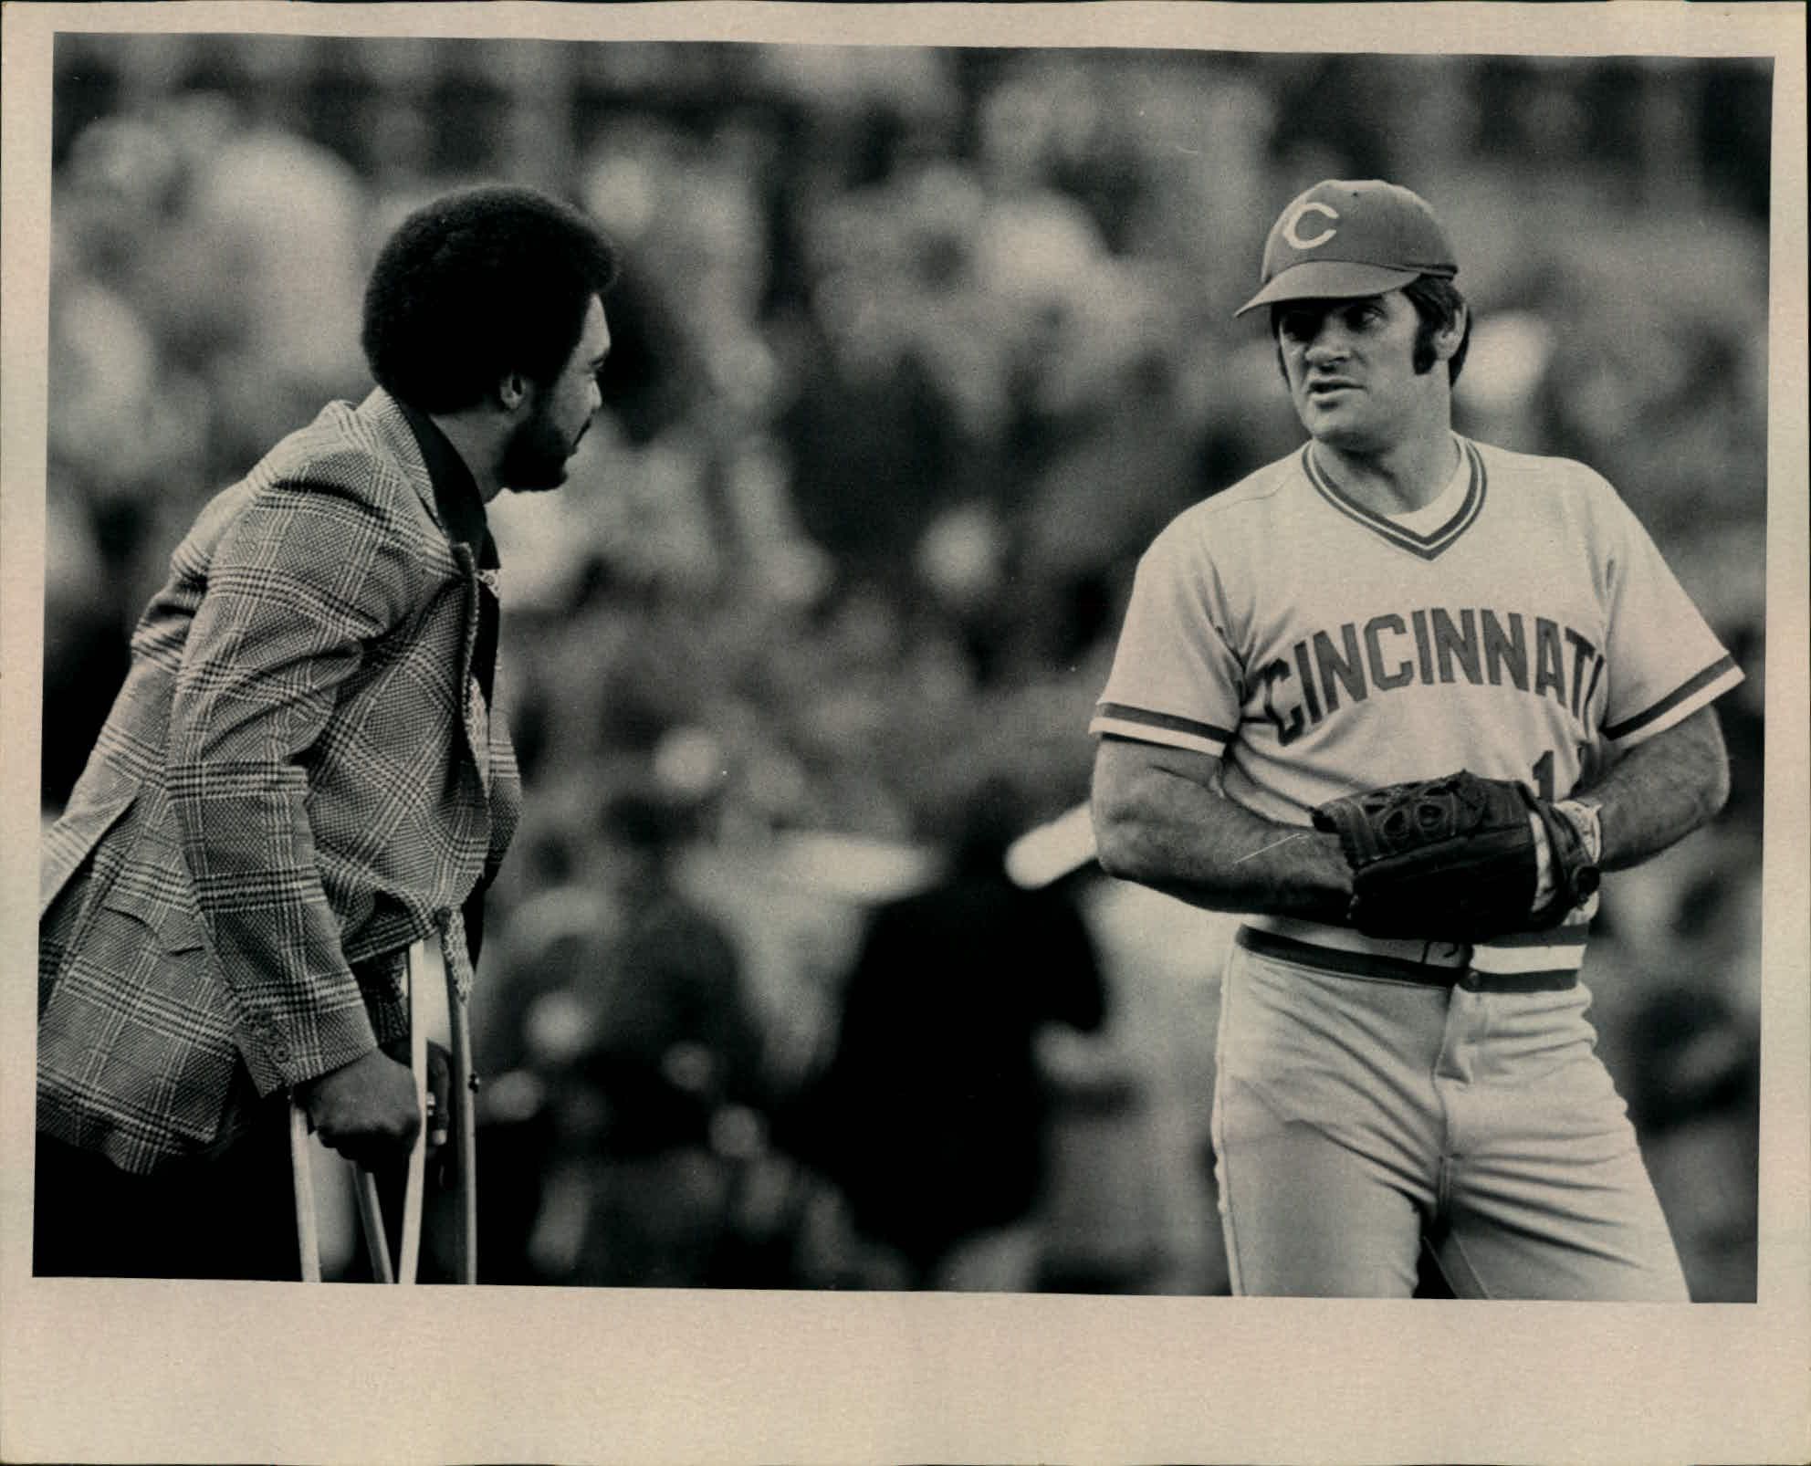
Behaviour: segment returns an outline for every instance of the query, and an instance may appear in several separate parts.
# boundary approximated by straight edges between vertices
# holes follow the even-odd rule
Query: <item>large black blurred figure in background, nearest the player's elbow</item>
[[[983,785],[944,879],[875,913],[795,1134],[911,1288],[1032,1287],[1023,1223],[1049,1109],[1034,1038],[1052,1022],[1094,1031],[1107,1015],[1074,904],[1007,877],[1016,805]]]

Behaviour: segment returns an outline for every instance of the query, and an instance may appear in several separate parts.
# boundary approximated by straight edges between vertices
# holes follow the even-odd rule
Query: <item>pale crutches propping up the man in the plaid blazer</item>
[[[415,942],[407,953],[409,1000],[409,1073],[415,1076],[415,1104],[422,1114],[422,1129],[409,1149],[407,1172],[402,1189],[400,1256],[391,1267],[389,1239],[384,1234],[384,1209],[377,1194],[377,1176],[353,1165],[353,1194],[359,1203],[359,1223],[366,1252],[371,1258],[371,1276],[378,1283],[413,1283],[420,1263],[422,1209],[427,1174],[427,968],[426,942]],[[451,969],[446,971],[447,1029],[451,1040],[451,1076],[447,1105],[456,1125],[455,1163],[458,1169],[458,1232],[455,1238],[455,1279],[478,1281],[478,1125],[474,1114],[476,1078],[471,1069],[471,1022],[465,998],[460,995]],[[302,1281],[321,1281],[321,1232],[315,1214],[313,1165],[308,1154],[308,1114],[301,1104],[290,1105],[290,1171],[295,1180],[295,1232],[301,1245]]]

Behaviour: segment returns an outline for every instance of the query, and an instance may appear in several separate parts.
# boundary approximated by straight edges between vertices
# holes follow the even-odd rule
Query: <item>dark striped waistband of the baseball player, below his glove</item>
[[[1474,993],[1554,993],[1579,980],[1586,924],[1498,937],[1490,942],[1423,942],[1365,937],[1344,926],[1293,917],[1250,917],[1237,942],[1246,951],[1302,962],[1342,977],[1422,982]]]

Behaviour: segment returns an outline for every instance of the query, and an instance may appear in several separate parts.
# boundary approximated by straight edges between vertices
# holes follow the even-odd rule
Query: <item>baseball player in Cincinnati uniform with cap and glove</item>
[[[1427,203],[1324,181],[1262,288],[1309,442],[1139,562],[1103,866],[1248,913],[1213,1140],[1235,1292],[1686,1299],[1579,982],[1599,870],[1710,819],[1742,672],[1597,473],[1452,431]]]

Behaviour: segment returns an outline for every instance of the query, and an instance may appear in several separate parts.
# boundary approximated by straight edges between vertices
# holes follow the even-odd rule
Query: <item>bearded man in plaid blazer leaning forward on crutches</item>
[[[170,556],[43,841],[38,1274],[297,1278],[292,1113],[368,1167],[415,1145],[407,955],[462,1018],[520,806],[485,506],[563,482],[614,272],[527,188],[417,210],[366,292],[377,390]]]

